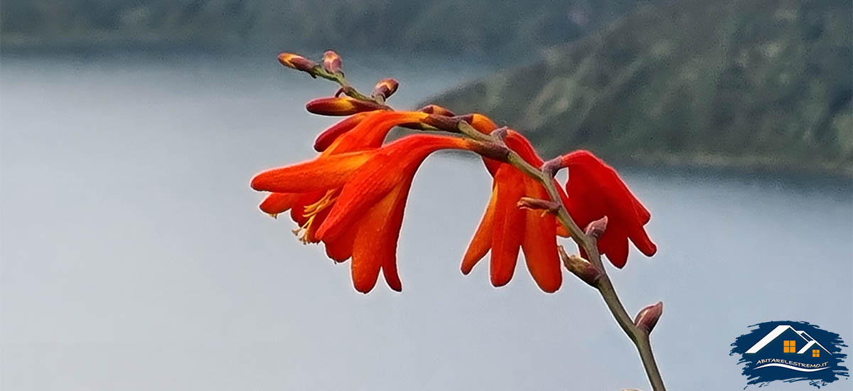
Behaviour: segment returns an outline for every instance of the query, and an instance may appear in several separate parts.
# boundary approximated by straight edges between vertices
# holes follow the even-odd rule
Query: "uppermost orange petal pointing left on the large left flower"
[[[252,189],[276,193],[334,189],[343,186],[370,155],[369,152],[350,152],[320,156],[293,166],[273,168],[252,178]]]

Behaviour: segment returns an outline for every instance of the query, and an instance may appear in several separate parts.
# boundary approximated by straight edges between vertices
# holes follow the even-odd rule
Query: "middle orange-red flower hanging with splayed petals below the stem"
[[[478,123],[474,122],[472,126],[479,131],[491,131],[485,120],[475,124]],[[494,125],[491,127],[493,129]],[[519,133],[508,131],[505,141],[531,165],[543,164],[531,143]],[[548,293],[555,292],[562,284],[556,218],[550,213],[519,209],[517,206],[522,196],[548,199],[547,191],[542,184],[514,166],[489,159],[485,159],[485,165],[494,177],[492,195],[462,259],[462,273],[471,272],[473,266],[491,252],[491,283],[496,287],[505,285],[513,277],[520,248],[525,254],[527,269],[539,288]]]

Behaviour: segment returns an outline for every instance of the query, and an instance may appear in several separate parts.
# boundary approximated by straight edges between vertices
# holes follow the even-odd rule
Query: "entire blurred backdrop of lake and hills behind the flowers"
[[[0,388],[648,389],[601,298],[461,255],[490,177],[421,168],[403,293],[351,288],[248,187],[309,159],[336,89],[281,51],[337,50],[391,103],[480,111],[548,157],[592,149],[659,253],[611,272],[664,301],[670,389],[746,385],[729,344],[803,320],[853,339],[849,0],[5,0]],[[568,244],[568,243],[566,243]],[[572,246],[570,246],[571,248]],[[849,353],[849,352],[847,352]],[[849,363],[848,363],[849,365]],[[849,388],[840,381],[827,389]],[[802,389],[774,383],[772,389]]]

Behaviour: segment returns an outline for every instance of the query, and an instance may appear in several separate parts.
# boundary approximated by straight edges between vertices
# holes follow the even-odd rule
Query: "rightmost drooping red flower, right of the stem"
[[[581,227],[607,217],[607,228],[598,240],[598,248],[613,266],[625,266],[629,239],[642,254],[652,256],[658,251],[643,228],[652,215],[611,166],[586,150],[577,150],[560,159],[562,166],[569,169],[566,209]]]

